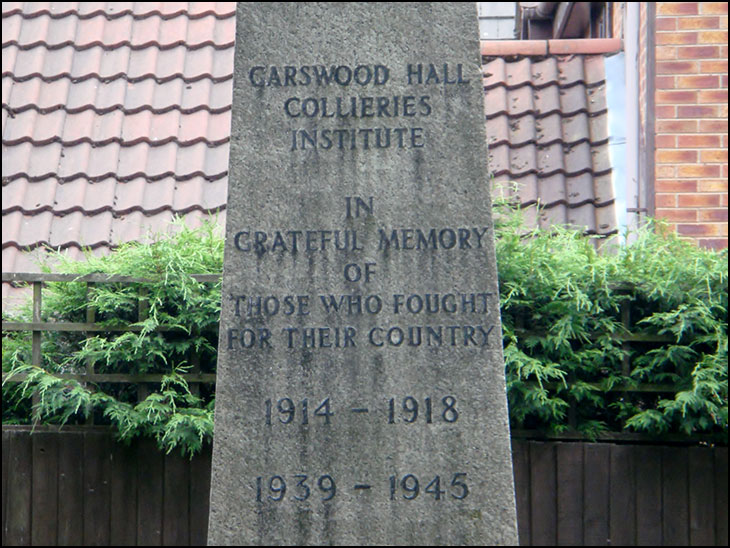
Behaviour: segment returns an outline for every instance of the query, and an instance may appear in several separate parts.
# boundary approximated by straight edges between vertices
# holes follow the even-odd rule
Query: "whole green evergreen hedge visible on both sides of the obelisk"
[[[500,216],[496,234],[513,428],[706,434],[727,443],[726,250],[699,249],[659,225],[630,245],[599,243],[560,227],[528,231],[511,214]],[[222,265],[214,224],[178,223],[153,244],[83,262],[59,256],[56,272],[153,281],[99,283],[88,295],[85,283],[49,283],[44,321],[83,322],[88,301],[96,321],[140,330],[46,332],[41,367],[30,365],[30,333],[4,332],[3,422],[83,423],[93,414],[122,440],[151,436],[167,452],[199,451],[212,438],[214,394],[191,390],[184,373],[193,363],[215,371],[221,293],[220,282],[190,274],[220,274]],[[89,365],[164,377],[138,400],[135,385],[56,376]]]

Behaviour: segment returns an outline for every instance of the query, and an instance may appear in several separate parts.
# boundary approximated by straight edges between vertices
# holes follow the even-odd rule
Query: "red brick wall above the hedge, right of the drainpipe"
[[[728,5],[658,2],[656,216],[728,245]]]

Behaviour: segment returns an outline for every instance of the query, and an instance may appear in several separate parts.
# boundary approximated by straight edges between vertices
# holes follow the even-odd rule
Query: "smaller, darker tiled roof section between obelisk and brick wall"
[[[482,68],[489,166],[502,194],[539,204],[529,213],[540,226],[615,233],[604,56],[485,55]]]

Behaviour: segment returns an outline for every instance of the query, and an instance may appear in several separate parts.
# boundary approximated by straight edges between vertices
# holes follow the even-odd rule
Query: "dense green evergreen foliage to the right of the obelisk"
[[[519,214],[496,233],[513,428],[727,443],[727,250],[656,223],[628,245]]]

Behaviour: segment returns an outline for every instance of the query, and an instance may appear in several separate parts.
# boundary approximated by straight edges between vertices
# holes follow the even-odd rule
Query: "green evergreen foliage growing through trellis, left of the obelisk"
[[[154,437],[160,448],[192,456],[213,434],[214,394],[191,391],[183,373],[193,362],[215,372],[220,317],[220,281],[200,283],[190,274],[220,274],[223,238],[214,223],[190,229],[181,221],[152,244],[129,243],[112,254],[88,253],[85,261],[55,256],[54,271],[132,276],[150,283],[51,282],[44,291],[43,321],[84,322],[87,302],[106,326],[138,326],[135,332],[43,334],[41,367],[30,365],[30,334],[3,333],[3,373],[24,373],[22,382],[3,381],[3,423],[111,424],[119,438]],[[140,299],[140,295],[142,299]],[[143,310],[140,318],[140,307]],[[29,311],[23,314],[30,317]],[[5,318],[4,318],[5,319]],[[81,383],[54,373],[161,374],[162,383],[138,401],[138,387]],[[36,395],[31,409],[30,396]]]

